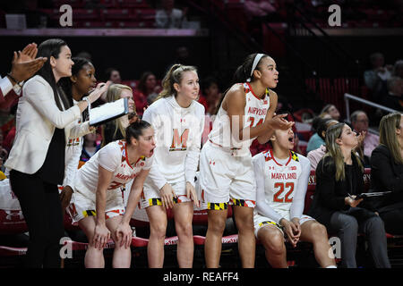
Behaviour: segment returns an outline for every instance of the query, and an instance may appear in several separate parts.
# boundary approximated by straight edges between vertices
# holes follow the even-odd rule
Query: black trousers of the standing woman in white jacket
[[[30,232],[25,265],[60,268],[64,225],[57,185],[43,181],[37,174],[15,170],[10,172],[10,183]]]

